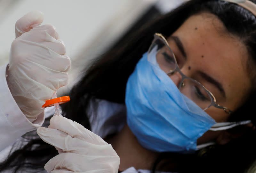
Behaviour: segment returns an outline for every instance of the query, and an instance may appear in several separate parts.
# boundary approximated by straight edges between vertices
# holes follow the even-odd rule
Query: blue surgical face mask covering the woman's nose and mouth
[[[179,91],[155,59],[154,55],[143,54],[128,79],[127,124],[140,144],[149,150],[194,151],[197,139],[218,123]],[[232,126],[220,124],[213,130]]]

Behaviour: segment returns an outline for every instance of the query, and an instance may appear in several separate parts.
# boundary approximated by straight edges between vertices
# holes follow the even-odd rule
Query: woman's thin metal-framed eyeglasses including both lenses
[[[159,67],[168,75],[172,76],[178,72],[181,75],[180,83],[178,88],[182,94],[191,99],[204,111],[211,106],[219,109],[223,109],[226,113],[231,114],[232,111],[226,107],[220,106],[216,103],[216,99],[213,94],[207,90],[204,85],[198,81],[184,75],[178,66],[175,55],[172,52],[167,40],[162,34],[155,33],[154,40],[148,49],[148,57],[156,55],[156,60]],[[153,61],[153,60],[149,60]]]

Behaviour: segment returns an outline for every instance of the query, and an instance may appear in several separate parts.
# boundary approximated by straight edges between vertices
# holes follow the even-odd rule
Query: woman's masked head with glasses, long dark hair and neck
[[[255,118],[249,113],[255,98],[255,29],[256,17],[237,4],[189,1],[93,61],[70,92],[64,115],[95,133],[93,119],[99,121],[102,110],[110,117],[104,125],[121,117],[108,125],[114,130],[98,131],[120,157],[120,171],[133,166],[153,172],[244,172],[256,151]],[[57,155],[52,146],[32,139],[36,133],[26,137],[28,144],[1,170],[43,169]]]

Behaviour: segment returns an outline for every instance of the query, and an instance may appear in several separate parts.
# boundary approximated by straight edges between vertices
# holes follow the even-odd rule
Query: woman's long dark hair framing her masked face
[[[255,0],[253,0],[255,2]],[[155,32],[166,36],[171,35],[191,15],[208,11],[216,15],[226,26],[228,32],[237,35],[246,45],[251,56],[247,66],[255,86],[254,65],[256,64],[256,18],[249,11],[236,4],[217,0],[191,0],[153,22],[143,25],[138,32],[132,33],[122,43],[108,50],[102,56],[95,58],[85,68],[83,77],[69,93],[71,101],[62,106],[64,115],[85,128],[91,129],[87,112],[89,102],[104,99],[124,104],[125,87],[128,77],[133,72],[136,63],[148,50]],[[239,81],[238,81],[239,82]],[[252,92],[236,112],[230,116],[230,121],[251,119],[255,124],[254,100],[256,92]],[[96,102],[95,102],[96,103]],[[97,104],[94,109],[97,110]],[[49,123],[45,120],[45,126]],[[152,165],[152,171],[166,165],[175,164],[171,171],[179,172],[244,172],[256,158],[256,135],[251,128],[237,127],[230,130],[245,131],[244,135],[226,145],[216,145],[201,149],[194,154],[161,153]],[[235,132],[234,132],[235,133]],[[57,151],[51,145],[44,143],[35,132],[24,136],[26,145],[15,150],[0,164],[0,171],[6,169],[37,172]],[[170,159],[174,158],[174,159]]]

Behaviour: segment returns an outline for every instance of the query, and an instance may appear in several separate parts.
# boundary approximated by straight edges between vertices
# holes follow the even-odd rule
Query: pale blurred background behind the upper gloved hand
[[[67,92],[93,57],[114,46],[145,22],[172,10],[186,0],[0,0],[0,65],[8,63],[15,39],[15,22],[29,11],[44,13],[43,24],[52,24],[71,59]]]

